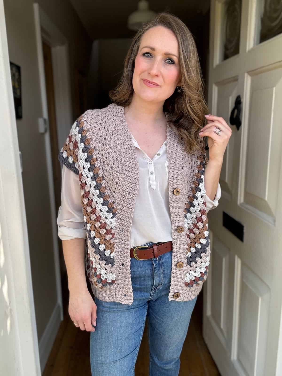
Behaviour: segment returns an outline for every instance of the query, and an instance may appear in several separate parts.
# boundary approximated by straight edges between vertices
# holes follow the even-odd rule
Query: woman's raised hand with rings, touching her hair
[[[208,124],[201,129],[199,135],[208,136],[209,159],[222,162],[232,130],[222,117],[214,115],[205,115],[205,117]],[[214,132],[216,128],[220,129],[219,135]]]

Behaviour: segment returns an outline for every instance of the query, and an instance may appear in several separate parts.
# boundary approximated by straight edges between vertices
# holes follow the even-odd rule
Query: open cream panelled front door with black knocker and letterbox
[[[239,130],[229,123],[238,95]],[[211,0],[208,102],[232,136],[220,205],[208,214],[203,336],[222,376],[281,376],[281,1]],[[223,225],[224,213],[238,226]],[[240,224],[243,241],[232,233]]]

